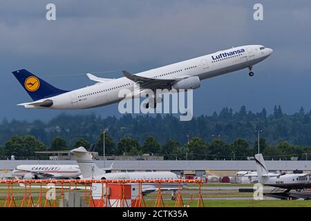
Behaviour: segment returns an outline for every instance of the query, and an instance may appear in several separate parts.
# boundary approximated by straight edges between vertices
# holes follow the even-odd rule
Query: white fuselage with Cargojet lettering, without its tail
[[[12,171],[12,175],[17,177],[30,174],[38,178],[75,178],[81,175],[81,171],[77,165],[19,165]]]

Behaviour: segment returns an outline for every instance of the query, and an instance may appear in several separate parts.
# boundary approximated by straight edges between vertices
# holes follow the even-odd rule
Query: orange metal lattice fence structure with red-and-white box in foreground
[[[197,185],[189,192],[183,189],[187,184]],[[201,184],[201,180],[0,180],[0,206],[201,207],[205,206]]]

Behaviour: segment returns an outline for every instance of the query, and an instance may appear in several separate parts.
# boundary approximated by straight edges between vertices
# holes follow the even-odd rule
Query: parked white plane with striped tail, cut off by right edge
[[[276,187],[272,193],[265,195],[280,199],[311,199],[311,192],[303,193],[311,188],[311,173],[280,173],[279,175],[270,175],[262,154],[255,155],[255,162],[258,182],[265,186]]]

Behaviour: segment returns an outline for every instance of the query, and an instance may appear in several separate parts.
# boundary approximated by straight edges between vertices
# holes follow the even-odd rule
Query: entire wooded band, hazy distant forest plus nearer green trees
[[[189,122],[180,122],[178,117],[173,115],[122,115],[121,117],[102,118],[93,114],[61,114],[47,122],[41,120],[26,122],[16,119],[9,121],[4,118],[0,124],[0,146],[2,146],[0,151],[2,156],[12,154],[27,157],[31,156],[35,150],[53,150],[56,146],[57,148],[73,148],[78,140],[84,140],[87,144],[97,144],[103,128],[106,127],[109,128],[107,139],[110,140],[106,141],[108,154],[128,154],[129,152],[140,154],[148,150],[154,154],[165,155],[167,159],[176,159],[176,157],[178,159],[183,159],[182,157],[211,159],[215,157],[213,146],[218,141],[221,144],[219,144],[220,149],[227,150],[216,151],[218,157],[220,153],[225,157],[233,153],[236,157],[244,157],[246,153],[252,154],[245,152],[241,155],[234,151],[232,146],[236,143],[237,137],[240,137],[249,145],[250,151],[256,152],[253,145],[257,138],[256,130],[262,131],[260,137],[265,140],[263,150],[267,151],[267,156],[296,154],[303,159],[304,153],[307,153],[308,157],[308,150],[311,146],[311,111],[307,112],[300,108],[296,113],[286,114],[283,113],[281,106],[274,106],[273,113],[267,114],[265,108],[253,113],[247,111],[245,106],[241,106],[236,112],[232,108],[225,107],[219,113],[200,115]],[[144,148],[144,142],[150,140],[150,137],[156,141],[157,151]],[[188,139],[191,142],[195,137],[202,145],[200,150],[193,151],[187,143]],[[288,142],[286,145],[285,141]],[[40,142],[40,145],[37,145],[37,142]],[[109,142],[112,145],[111,151]],[[167,147],[168,142],[171,146],[176,146],[174,150]],[[25,145],[25,143],[37,146],[37,148],[34,150],[26,148],[29,144]],[[13,144],[18,144],[20,148],[8,151],[10,149],[8,146],[14,146]],[[127,144],[133,148],[125,147]],[[287,147],[281,148],[280,145]],[[170,150],[168,153],[165,152],[167,149]],[[102,153],[102,148],[98,148],[98,151]]]

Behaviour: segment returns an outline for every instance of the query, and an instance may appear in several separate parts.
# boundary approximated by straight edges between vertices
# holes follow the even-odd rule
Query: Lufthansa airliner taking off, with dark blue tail
[[[117,79],[96,77],[88,73],[88,78],[97,83],[77,90],[56,88],[25,69],[12,73],[33,100],[17,105],[25,108],[84,109],[120,102],[124,99],[119,96],[122,89],[131,91],[126,97],[135,98],[138,95],[146,95],[150,90],[154,92],[156,89],[178,91],[196,89],[200,87],[200,81],[203,79],[244,68],[249,69],[249,76],[252,77],[254,76],[253,66],[269,57],[272,52],[271,48],[265,48],[265,46],[247,45],[220,50],[135,75],[122,70],[124,77]],[[138,86],[140,90],[137,93],[135,88]],[[156,99],[154,96],[149,97],[149,100],[151,105],[147,103],[146,108],[156,108],[156,104],[162,102],[162,99]]]

